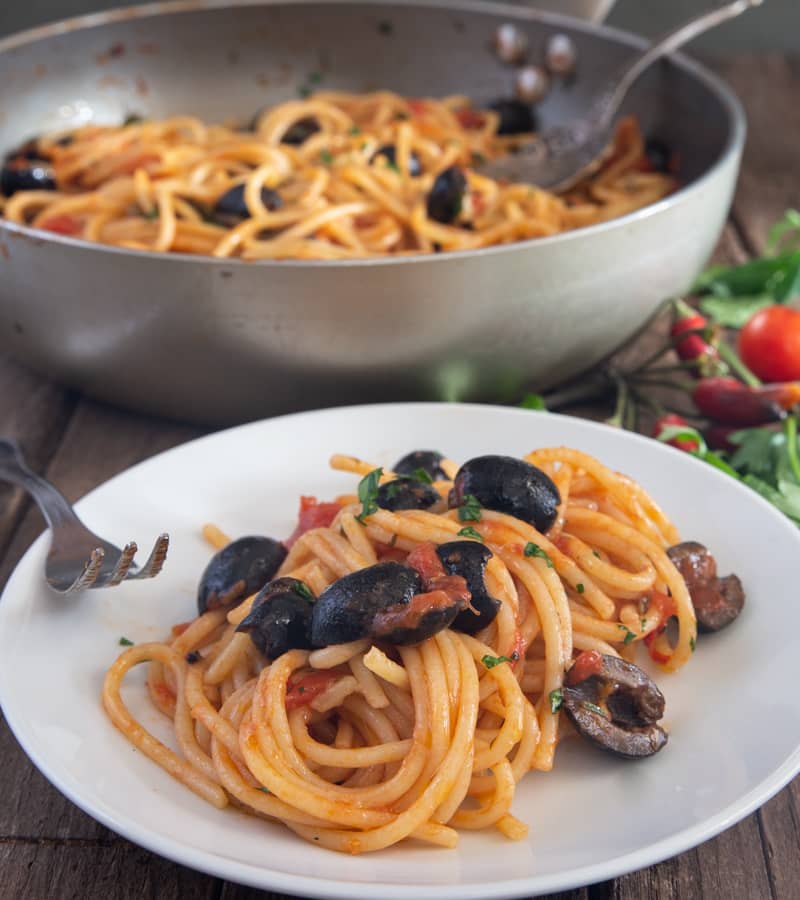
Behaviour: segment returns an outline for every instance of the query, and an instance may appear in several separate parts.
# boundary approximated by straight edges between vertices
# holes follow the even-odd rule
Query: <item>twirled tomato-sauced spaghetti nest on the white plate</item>
[[[111,720],[212,805],[283,822],[333,850],[361,853],[405,838],[453,847],[461,829],[524,837],[527,826],[511,812],[515,786],[529,770],[553,766],[566,729],[551,699],[575,655],[631,660],[663,629],[663,611],[643,602],[651,591],[671,596],[678,620],[677,639],[659,635],[653,645],[665,669],[686,663],[696,635],[686,585],[665,552],[678,535],[643,488],[573,449],[525,459],[550,475],[561,502],[547,534],[488,509],[469,521],[492,551],[485,581],[501,601],[483,631],[446,628],[401,647],[365,638],[269,663],[235,630],[248,597],[175,627],[163,643],[123,652],[103,688]],[[353,457],[331,463],[374,471]],[[442,468],[452,478],[457,466]],[[452,481],[434,487],[444,510]],[[362,524],[355,495],[337,504],[330,524],[301,534],[278,572],[317,596],[387,556],[459,540],[465,527],[457,510],[379,508]],[[214,527],[205,534],[217,548],[227,543]],[[177,752],[121,698],[124,676],[143,662]]]

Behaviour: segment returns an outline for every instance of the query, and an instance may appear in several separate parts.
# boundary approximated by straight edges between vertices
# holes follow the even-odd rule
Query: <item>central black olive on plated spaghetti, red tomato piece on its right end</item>
[[[464,601],[422,593],[416,569],[383,562],[334,581],[320,594],[311,615],[314,647],[363,637],[392,644],[415,644],[441,631],[464,608]]]

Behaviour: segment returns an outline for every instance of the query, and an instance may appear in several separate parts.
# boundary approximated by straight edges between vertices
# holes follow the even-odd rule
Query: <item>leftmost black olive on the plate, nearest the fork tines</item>
[[[286,547],[267,537],[231,541],[211,557],[200,578],[200,614],[254,594],[275,575],[286,559]]]

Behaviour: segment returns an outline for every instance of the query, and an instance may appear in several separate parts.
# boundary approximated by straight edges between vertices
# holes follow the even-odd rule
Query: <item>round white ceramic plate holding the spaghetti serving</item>
[[[194,613],[209,556],[202,523],[234,535],[288,534],[299,494],[352,490],[352,477],[328,469],[336,451],[391,465],[420,447],[466,459],[558,444],[641,481],[684,537],[708,544],[722,573],[740,575],[747,605],[728,631],[700,636],[683,671],[659,677],[671,732],[662,753],[631,763],[575,742],[558,751],[552,773],[525,778],[514,812],[530,823],[529,840],[465,833],[457,850],[409,843],[340,856],[279,825],[206,805],[106,719],[101,683],[120,636],[152,640]],[[78,508],[117,543],[169,531],[166,568],[153,582],[65,600],[44,587],[47,545],[38,540],[0,604],[0,700],[20,743],[59,790],[119,834],[196,869],[313,897],[530,896],[680,853],[752,812],[800,769],[793,641],[800,531],[747,488],[655,441],[522,410],[352,407],[194,441],[114,478]],[[128,696],[138,693],[133,687]]]

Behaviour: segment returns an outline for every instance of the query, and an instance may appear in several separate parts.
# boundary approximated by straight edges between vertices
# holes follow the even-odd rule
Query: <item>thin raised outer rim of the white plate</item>
[[[119,480],[126,478],[131,472],[135,472],[146,466],[158,465],[159,461],[163,460],[165,457],[180,454],[186,447],[195,446],[200,443],[214,442],[220,440],[222,436],[246,435],[248,432],[255,431],[265,425],[281,428],[284,424],[288,424],[291,427],[291,423],[296,420],[307,419],[309,417],[335,416],[337,413],[358,410],[363,411],[365,414],[378,415],[390,411],[393,415],[400,415],[406,413],[413,414],[416,410],[425,410],[437,406],[443,410],[443,414],[446,414],[444,413],[445,410],[454,409],[458,410],[459,414],[463,412],[466,415],[477,414],[478,416],[492,416],[498,412],[501,412],[503,415],[526,417],[546,415],[551,419],[558,419],[565,423],[569,422],[567,427],[570,430],[585,429],[589,434],[591,434],[594,429],[616,432],[616,429],[611,429],[609,426],[587,420],[557,416],[552,413],[536,413],[527,410],[515,410],[506,407],[489,407],[478,404],[371,404],[341,407],[338,409],[315,410],[281,416],[270,420],[262,420],[260,422],[253,422],[236,428],[227,429],[222,432],[216,432],[206,437],[190,441],[187,444],[174,447],[151,457],[150,459],[144,460],[136,466],[126,469],[114,478],[105,482],[103,485],[98,486],[76,504],[76,508],[80,511],[87,502],[94,498],[97,492],[102,491],[110,485],[116,484]],[[673,450],[657,445],[650,439],[627,432],[618,432],[618,434],[621,440],[638,444],[641,447],[642,452],[667,454],[664,456],[665,464],[668,464],[671,459],[674,459],[671,456],[671,454],[674,453]],[[694,460],[686,460],[686,462],[691,465],[703,466],[705,470],[704,477],[712,481],[716,480],[720,484],[724,484],[725,490],[741,492],[743,495],[746,495],[747,503],[760,505],[765,514],[773,516],[785,523],[787,527],[791,527],[789,526],[788,521],[785,520],[780,513],[775,511],[770,504],[752,492],[749,488],[736,483],[728,476],[723,475],[710,466],[705,466],[703,463]],[[5,599],[7,595],[10,595],[16,589],[15,582],[19,577],[20,568],[23,563],[30,556],[40,553],[46,540],[47,535],[45,533],[40,536],[27,551],[17,569],[15,569],[10,577],[2,599]],[[3,604],[2,600],[0,600],[0,622],[2,622],[3,610],[6,605],[7,604]],[[16,709],[14,705],[11,682],[4,680],[2,675],[2,665],[0,664],[0,705],[3,707],[6,720],[15,737],[39,771],[61,793],[68,797],[78,807],[83,809],[87,814],[134,843],[177,863],[237,883],[273,891],[285,891],[287,893],[308,897],[337,898],[337,900],[338,898],[349,900],[349,898],[361,897],[370,898],[371,900],[371,898],[376,895],[376,892],[380,892],[380,896],[387,898],[387,900],[406,900],[409,896],[409,892],[413,891],[414,895],[418,897],[419,900],[425,900],[425,898],[430,898],[430,900],[481,900],[481,898],[485,898],[485,900],[489,900],[489,898],[522,897],[530,896],[532,893],[539,895],[578,888],[646,868],[691,849],[692,847],[696,847],[698,844],[715,837],[720,832],[731,827],[736,822],[758,809],[781,790],[781,788],[783,788],[798,773],[798,771],[800,771],[799,743],[782,765],[776,767],[768,777],[763,778],[755,784],[751,790],[742,795],[737,801],[729,804],[716,815],[710,816],[694,826],[682,829],[673,835],[670,835],[668,838],[651,843],[634,852],[614,857],[602,863],[572,868],[569,871],[548,875],[533,874],[530,877],[497,881],[493,884],[478,883],[474,885],[461,882],[457,884],[431,884],[419,880],[409,880],[402,885],[381,881],[373,881],[370,883],[362,881],[332,881],[324,877],[287,874],[265,868],[264,866],[255,866],[240,861],[232,861],[221,855],[197,850],[181,840],[166,837],[163,834],[154,835],[150,830],[141,827],[134,816],[112,809],[99,800],[96,802],[87,801],[86,797],[81,793],[80,785],[76,788],[76,786],[71,783],[69,777],[65,778],[56,767],[51,765],[47,754],[41,753],[39,748],[32,744],[32,736],[26,727],[24,717],[18,714],[19,710]],[[411,877],[413,878],[413,875]]]

